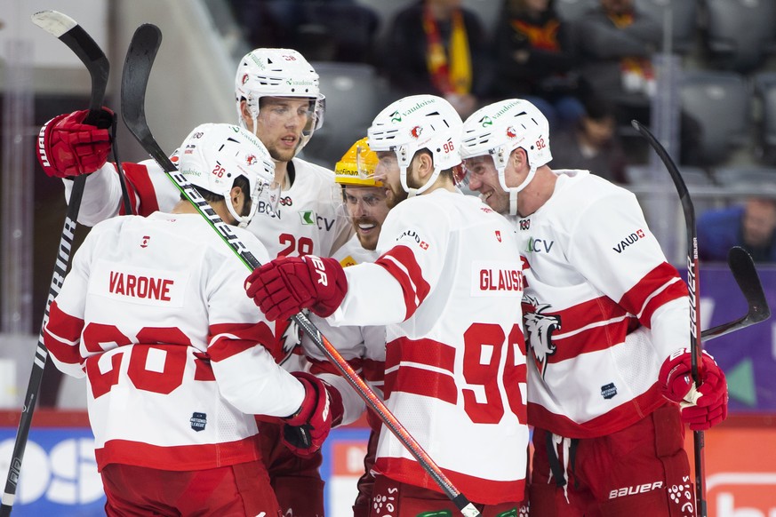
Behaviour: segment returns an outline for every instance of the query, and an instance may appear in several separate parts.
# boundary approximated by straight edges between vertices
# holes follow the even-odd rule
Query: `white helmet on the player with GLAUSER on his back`
[[[442,171],[460,165],[463,123],[455,108],[436,95],[412,95],[396,100],[374,117],[367,131],[372,151],[394,151],[402,187],[410,197],[425,192]],[[407,186],[407,167],[420,149],[434,159],[434,173],[420,188]]]

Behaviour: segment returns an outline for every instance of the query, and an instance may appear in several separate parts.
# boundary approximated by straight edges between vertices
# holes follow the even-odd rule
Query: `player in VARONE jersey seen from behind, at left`
[[[243,229],[276,203],[275,163],[251,133],[197,126],[180,171],[259,260]],[[281,515],[254,414],[284,418],[291,447],[331,426],[324,383],[283,370],[244,299],[244,264],[194,205],[92,228],[52,302],[44,342],[85,377],[108,515]]]

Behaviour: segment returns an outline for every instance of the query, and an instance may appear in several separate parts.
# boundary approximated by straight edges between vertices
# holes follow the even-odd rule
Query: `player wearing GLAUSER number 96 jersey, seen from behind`
[[[275,259],[246,283],[269,319],[309,307],[335,325],[387,325],[388,408],[484,515],[509,514],[527,465],[522,264],[508,221],[454,186],[460,131],[436,96],[383,109],[368,133],[393,207],[380,258]],[[372,517],[457,511],[385,427],[374,470]]]

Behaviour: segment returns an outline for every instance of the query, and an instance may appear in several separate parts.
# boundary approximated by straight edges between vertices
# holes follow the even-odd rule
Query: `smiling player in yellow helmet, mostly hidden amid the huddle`
[[[334,195],[343,201],[345,212],[355,232],[355,235],[332,256],[343,267],[371,263],[380,257],[377,241],[390,209],[388,209],[383,183],[374,178],[377,163],[377,154],[369,148],[364,138],[356,141],[334,167],[334,177],[338,185],[335,187]],[[340,355],[348,360],[375,393],[381,395],[385,374],[385,327],[383,325],[333,327],[316,314],[310,314],[310,321],[337,346]],[[349,386],[348,381],[341,377],[340,371],[324,357],[308,335],[302,337],[302,346],[313,363],[310,372],[339,390],[344,409],[342,424],[355,421],[364,413],[364,401],[356,390]],[[367,421],[372,430],[364,457],[364,474],[357,482],[358,496],[353,505],[353,517],[367,517],[371,505],[374,476],[370,471],[374,465],[381,422],[372,411],[367,413]]]

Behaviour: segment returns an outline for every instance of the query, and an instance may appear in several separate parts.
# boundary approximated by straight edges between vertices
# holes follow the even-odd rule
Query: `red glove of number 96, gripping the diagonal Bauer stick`
[[[269,321],[286,320],[302,309],[325,318],[348,292],[348,279],[335,259],[315,255],[280,257],[253,270],[245,280],[248,297]]]

